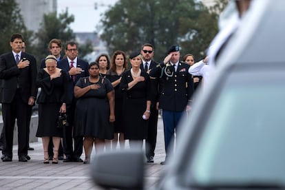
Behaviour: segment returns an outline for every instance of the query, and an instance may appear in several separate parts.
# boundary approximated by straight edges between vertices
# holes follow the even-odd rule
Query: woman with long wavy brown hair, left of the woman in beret
[[[120,79],[122,78],[122,74],[125,70],[127,70],[127,59],[125,52],[117,50],[112,55],[110,69],[106,75],[115,89],[116,120],[114,122],[114,140],[112,140],[113,149],[116,149],[117,144],[119,145],[119,148],[125,148],[125,129],[123,124],[123,97],[125,96],[125,93],[120,90]]]

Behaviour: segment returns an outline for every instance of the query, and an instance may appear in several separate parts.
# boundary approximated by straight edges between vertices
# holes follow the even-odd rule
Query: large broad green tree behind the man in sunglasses
[[[216,18],[193,0],[120,0],[105,12],[101,23],[101,39],[109,54],[115,50],[129,53],[139,50],[142,43],[152,43],[156,60],[163,59],[173,44],[182,47],[182,54],[202,56],[217,32],[212,28]]]

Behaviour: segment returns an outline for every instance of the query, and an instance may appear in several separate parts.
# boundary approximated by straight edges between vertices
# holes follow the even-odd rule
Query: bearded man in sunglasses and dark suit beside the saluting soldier
[[[140,70],[145,70],[150,72],[153,68],[158,65],[158,62],[154,61],[152,58],[154,56],[154,45],[150,43],[145,43],[140,49],[140,54],[142,55],[142,63],[140,64]],[[156,149],[156,136],[158,134],[158,86],[159,77],[150,78],[150,87],[153,96],[151,97],[151,114],[149,116],[149,123],[147,127],[147,138],[145,156],[147,157],[147,162],[154,162],[154,150]]]

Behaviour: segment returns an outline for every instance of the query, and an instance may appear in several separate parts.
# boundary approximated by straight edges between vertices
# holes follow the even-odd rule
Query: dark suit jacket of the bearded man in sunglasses
[[[149,70],[156,68],[159,63],[151,60]],[[143,63],[140,64],[140,70],[144,70]],[[156,103],[159,101],[159,77],[150,77],[150,91],[151,91],[151,108],[156,108]]]

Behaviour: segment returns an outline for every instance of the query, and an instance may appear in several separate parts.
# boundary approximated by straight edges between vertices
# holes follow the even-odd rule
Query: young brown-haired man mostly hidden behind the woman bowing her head
[[[59,62],[63,57],[61,56],[61,50],[63,45],[60,39],[52,39],[48,43],[48,48],[50,53],[56,57],[56,61]],[[41,60],[40,70],[45,68],[45,58]],[[49,160],[52,160],[54,157],[54,144],[52,143],[52,136],[50,137],[50,142],[48,144],[48,155],[50,156]],[[63,145],[59,144],[59,160],[63,160]]]

